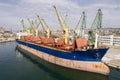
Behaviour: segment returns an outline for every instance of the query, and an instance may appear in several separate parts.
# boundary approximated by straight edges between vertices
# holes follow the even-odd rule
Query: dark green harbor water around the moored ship
[[[120,80],[120,70],[110,75],[63,68],[44,60],[33,60],[17,49],[16,42],[0,43],[0,80]]]

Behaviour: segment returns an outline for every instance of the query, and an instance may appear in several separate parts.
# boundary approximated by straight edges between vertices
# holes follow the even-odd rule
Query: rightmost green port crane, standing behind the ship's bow
[[[100,34],[100,29],[102,28],[102,11],[98,9],[95,19],[91,25],[91,31],[89,31],[88,44],[93,45],[97,48],[98,46],[98,35]],[[94,31],[94,32],[93,32]]]

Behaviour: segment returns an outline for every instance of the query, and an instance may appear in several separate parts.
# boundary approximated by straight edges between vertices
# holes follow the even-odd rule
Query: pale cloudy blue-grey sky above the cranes
[[[69,29],[74,29],[83,11],[86,27],[90,28],[100,8],[103,13],[103,28],[120,28],[120,0],[0,0],[0,27],[6,30],[21,30],[20,20],[30,27],[27,18],[37,19],[39,14],[51,30],[61,29],[53,5],[62,18],[68,15]],[[42,30],[41,25],[39,29]]]

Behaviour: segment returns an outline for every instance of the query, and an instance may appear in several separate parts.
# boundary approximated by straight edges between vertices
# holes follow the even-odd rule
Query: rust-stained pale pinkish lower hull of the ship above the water
[[[83,70],[83,71],[89,71],[94,73],[99,73],[103,75],[109,75],[109,68],[102,62],[94,62],[94,61],[75,61],[75,60],[68,60],[63,58],[58,58],[43,52],[40,52],[36,49],[18,44],[18,48],[22,51],[28,52],[26,55],[30,56],[31,58],[41,58],[45,61],[48,61],[50,63],[67,67],[71,69],[76,70]],[[33,57],[34,56],[34,57]]]

